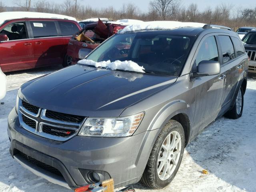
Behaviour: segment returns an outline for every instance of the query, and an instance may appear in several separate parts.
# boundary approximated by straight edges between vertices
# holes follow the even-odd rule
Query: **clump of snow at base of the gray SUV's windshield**
[[[85,65],[91,65],[95,67],[104,67],[111,70],[124,70],[124,71],[134,71],[134,72],[141,72],[144,73],[144,67],[139,66],[137,63],[133,61],[114,61],[111,62],[108,61],[102,61],[102,62],[95,62],[93,60],[87,60],[83,59],[78,61],[78,64],[85,64]]]

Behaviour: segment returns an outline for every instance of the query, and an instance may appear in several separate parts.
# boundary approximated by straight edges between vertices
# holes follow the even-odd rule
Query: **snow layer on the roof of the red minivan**
[[[0,13],[0,24],[2,24],[6,20],[11,19],[22,19],[22,18],[57,18],[57,19],[68,19],[76,21],[76,18],[59,15],[59,14],[51,14],[51,13],[39,13],[39,12],[22,12],[22,11],[12,11],[12,12],[1,12]]]

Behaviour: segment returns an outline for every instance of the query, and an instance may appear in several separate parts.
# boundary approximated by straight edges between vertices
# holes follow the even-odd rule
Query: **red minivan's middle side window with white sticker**
[[[54,21],[31,21],[34,38],[58,36]]]

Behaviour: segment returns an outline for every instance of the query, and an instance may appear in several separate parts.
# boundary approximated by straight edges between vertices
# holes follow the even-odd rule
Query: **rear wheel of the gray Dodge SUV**
[[[237,107],[239,107],[240,110],[237,110]],[[236,100],[233,108],[228,112],[226,112],[224,116],[230,119],[238,119],[242,116],[243,108],[244,108],[244,91],[242,87],[240,87],[236,95]]]

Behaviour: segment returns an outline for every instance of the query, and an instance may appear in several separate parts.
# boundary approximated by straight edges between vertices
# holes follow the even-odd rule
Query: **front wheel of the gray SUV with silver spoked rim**
[[[180,141],[177,143],[177,146],[174,147],[174,150],[171,150],[172,152],[178,151],[177,149],[180,150],[180,155],[178,157],[178,153],[172,154],[172,152],[167,152],[168,150],[165,150],[163,148],[164,144],[167,144],[167,137],[170,135],[170,141],[173,141],[174,135],[177,135],[177,140],[178,141],[178,134],[180,136]],[[170,146],[172,142],[170,142]],[[180,163],[183,157],[183,152],[184,152],[184,147],[185,147],[185,136],[184,136],[184,129],[182,125],[175,121],[175,120],[169,120],[167,124],[162,128],[161,132],[159,133],[156,142],[154,143],[154,146],[152,148],[152,151],[150,153],[150,157],[148,159],[148,163],[146,165],[146,168],[144,170],[144,173],[141,178],[141,182],[145,184],[146,186],[153,188],[153,189],[160,189],[166,187],[170,182],[173,180],[175,177],[176,173],[178,172],[178,169],[180,167]],[[173,146],[172,146],[173,148]],[[164,156],[168,156],[170,159],[167,160],[164,158]],[[173,156],[173,158],[172,158]],[[165,159],[165,161],[158,161],[158,158]],[[159,159],[160,160],[160,159]],[[174,161],[175,160],[175,164]],[[165,162],[165,163],[164,163]],[[169,162],[169,163],[168,163]],[[164,167],[162,167],[162,164],[164,164]],[[169,174],[164,174],[165,166],[170,164],[169,169]],[[158,169],[162,170],[158,174]],[[162,174],[161,174],[162,173]],[[167,173],[167,172],[166,172]],[[160,175],[161,174],[161,175]],[[162,177],[162,178],[160,178]]]

